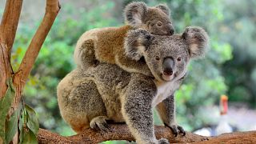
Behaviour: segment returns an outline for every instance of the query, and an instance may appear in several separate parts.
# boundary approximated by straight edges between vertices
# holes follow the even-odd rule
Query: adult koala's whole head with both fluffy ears
[[[186,74],[190,58],[205,54],[208,35],[200,27],[187,27],[183,34],[159,36],[146,30],[130,30],[125,40],[126,56],[136,61],[145,58],[154,78],[172,81]]]

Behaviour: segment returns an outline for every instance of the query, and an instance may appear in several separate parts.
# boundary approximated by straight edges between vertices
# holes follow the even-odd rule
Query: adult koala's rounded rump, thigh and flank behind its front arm
[[[90,121],[97,116],[124,122],[120,101],[129,81],[130,73],[116,65],[73,70],[57,87],[62,118],[77,132],[90,127]]]

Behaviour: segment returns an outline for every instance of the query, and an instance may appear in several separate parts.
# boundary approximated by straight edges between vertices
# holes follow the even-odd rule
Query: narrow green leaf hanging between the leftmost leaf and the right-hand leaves
[[[14,114],[10,117],[10,120],[7,122],[6,125],[6,143],[9,143],[13,138],[14,135],[18,131],[18,110],[14,111]]]

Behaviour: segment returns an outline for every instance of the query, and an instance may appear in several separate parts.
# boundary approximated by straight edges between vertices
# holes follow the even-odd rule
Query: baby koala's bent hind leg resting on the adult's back
[[[94,54],[94,40],[88,39],[82,43],[81,47],[76,47],[74,59],[82,70],[87,70],[90,66],[97,66],[98,60]]]

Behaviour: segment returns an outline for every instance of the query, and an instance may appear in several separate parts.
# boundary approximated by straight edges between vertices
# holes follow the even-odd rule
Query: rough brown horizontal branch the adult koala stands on
[[[110,140],[134,141],[128,127],[125,124],[111,124],[111,132],[98,132],[87,129],[82,134],[64,137],[48,130],[40,129],[38,133],[39,143],[98,143]],[[198,134],[186,132],[186,136],[174,137],[171,130],[165,126],[155,126],[157,138],[167,138],[171,143],[256,143],[256,131],[235,132],[222,134],[218,137],[203,137]]]

